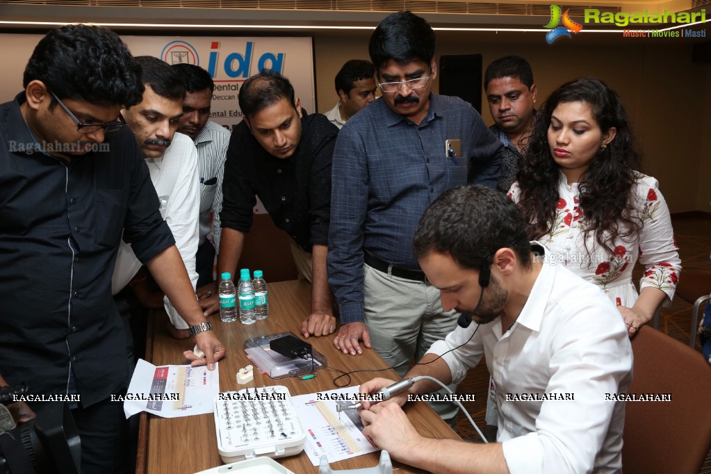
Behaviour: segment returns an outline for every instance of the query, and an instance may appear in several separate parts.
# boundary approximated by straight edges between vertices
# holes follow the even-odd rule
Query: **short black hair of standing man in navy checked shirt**
[[[432,27],[411,11],[388,15],[370,36],[368,52],[376,68],[389,60],[405,65],[414,60],[429,64],[434,58],[435,36]]]

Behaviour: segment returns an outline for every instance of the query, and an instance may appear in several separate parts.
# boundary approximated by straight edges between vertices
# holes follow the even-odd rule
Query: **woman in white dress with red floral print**
[[[585,78],[545,102],[509,195],[530,237],[616,302],[629,336],[668,306],[681,270],[658,182],[636,171],[638,151],[619,96]],[[640,262],[645,271],[632,282]]]

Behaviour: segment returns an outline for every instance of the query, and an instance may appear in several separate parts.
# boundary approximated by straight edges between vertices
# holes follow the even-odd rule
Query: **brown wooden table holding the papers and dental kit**
[[[305,281],[282,281],[269,284],[269,318],[257,321],[252,325],[222,323],[218,316],[210,317],[215,334],[225,344],[228,352],[220,361],[220,392],[244,388],[238,386],[235,373],[240,367],[250,364],[243,344],[245,340],[260,335],[292,331],[299,335],[301,321],[309,314],[311,285]],[[185,364],[183,350],[193,348],[192,340],[175,340],[165,328],[167,316],[158,312],[149,321],[149,347],[146,358],[154,365]],[[152,334],[151,334],[152,333]],[[303,338],[303,337],[302,337]],[[309,343],[315,350],[326,356],[328,365],[338,367],[348,372],[363,368],[385,368],[385,362],[374,350],[365,349],[363,355],[343,355],[333,347],[333,338],[309,338]],[[152,354],[151,354],[152,350]],[[292,396],[336,389],[333,378],[338,372],[324,368],[316,372],[314,379],[301,380],[289,377],[274,380],[267,375],[258,374],[255,370],[257,387],[262,385],[282,384],[289,387]],[[398,379],[392,370],[385,372],[358,372],[351,375],[351,385],[367,382],[376,376]],[[343,383],[343,379],[338,382]],[[250,383],[248,385],[254,387]],[[410,402],[405,405],[405,411],[419,433],[432,438],[459,439],[454,431],[432,411],[424,402]],[[334,469],[368,468],[378,464],[380,451],[357,456],[352,459],[332,463]],[[311,465],[311,461],[302,451],[297,456],[277,459],[284,467],[296,474],[317,473],[319,468]],[[137,474],[191,474],[208,468],[223,465],[217,449],[215,438],[215,422],[213,414],[185,416],[182,418],[161,418],[159,416],[141,414],[139,431],[139,446],[137,456]],[[398,473],[422,473],[393,461]]]

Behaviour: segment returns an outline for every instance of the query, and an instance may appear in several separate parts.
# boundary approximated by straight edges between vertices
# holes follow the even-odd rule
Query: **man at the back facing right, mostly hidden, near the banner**
[[[375,100],[375,66],[370,61],[346,61],[336,75],[338,103],[326,112],[326,118],[339,129],[356,112]]]

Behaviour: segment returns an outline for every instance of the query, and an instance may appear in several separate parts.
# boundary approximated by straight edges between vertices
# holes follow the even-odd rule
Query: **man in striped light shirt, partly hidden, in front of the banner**
[[[198,188],[200,193],[200,241],[196,254],[198,298],[217,293],[214,283],[215,249],[220,248],[220,210],[225,156],[230,144],[230,131],[209,120],[215,82],[199,66],[179,63],[172,66],[186,88],[183,117],[178,132],[186,134],[198,149]],[[208,239],[212,237],[212,242]],[[214,244],[214,245],[213,245]],[[203,303],[203,301],[201,301]],[[205,304],[203,303],[203,310]]]

